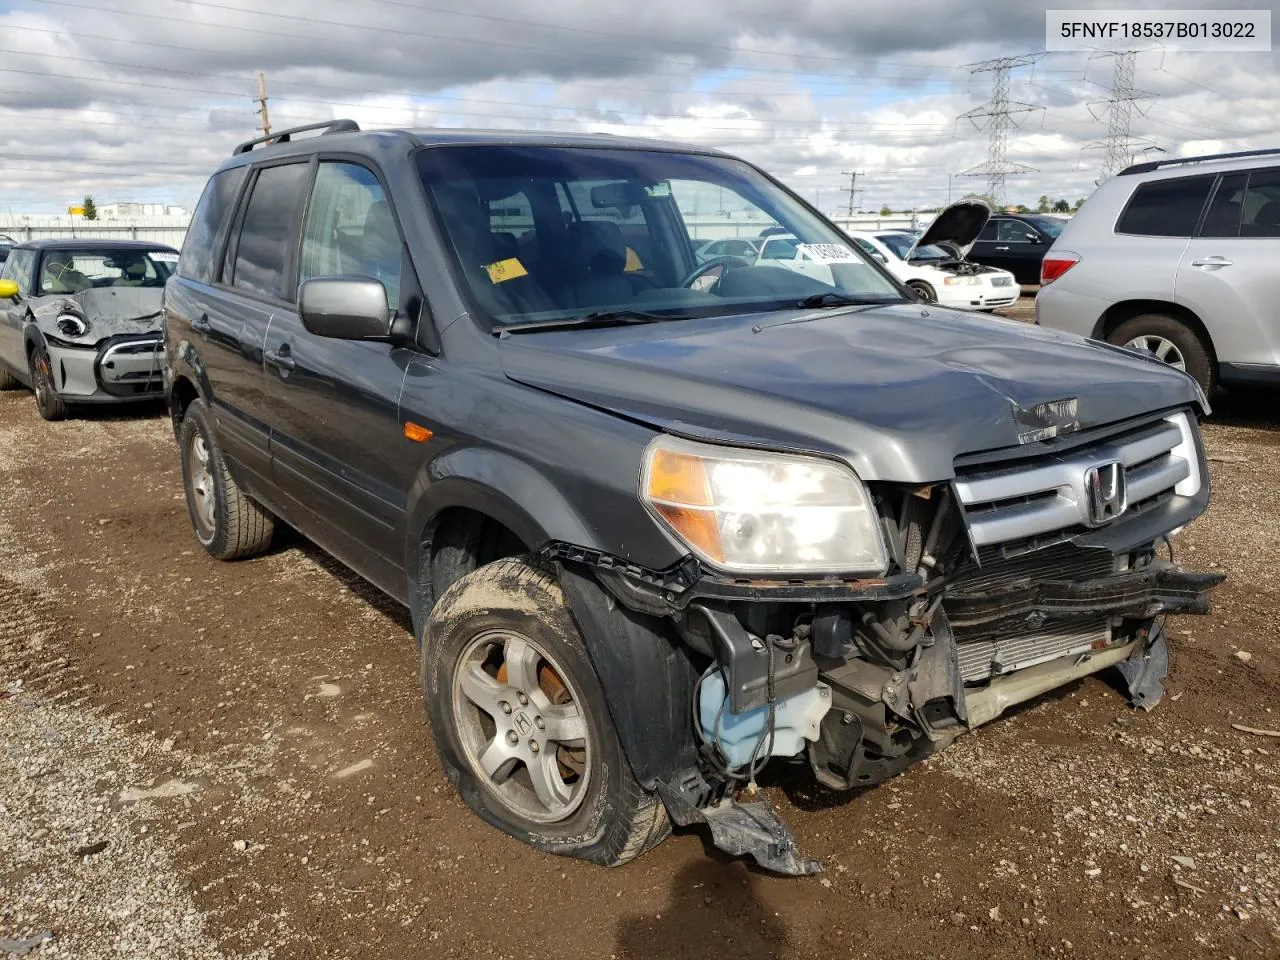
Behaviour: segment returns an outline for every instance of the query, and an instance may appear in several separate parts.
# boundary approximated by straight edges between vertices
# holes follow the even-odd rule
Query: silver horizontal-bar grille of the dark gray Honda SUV
[[[1174,413],[1093,445],[961,472],[956,493],[974,545],[1094,526],[1085,475],[1111,461],[1124,467],[1129,508],[1170,494],[1192,497],[1201,488],[1196,425],[1188,413]]]

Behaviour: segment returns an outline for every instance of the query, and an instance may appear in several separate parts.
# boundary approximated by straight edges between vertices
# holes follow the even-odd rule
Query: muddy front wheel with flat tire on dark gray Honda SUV
[[[421,680],[444,771],[492,826],[545,852],[607,867],[635,859],[671,832],[662,800],[631,772],[581,635],[547,570],[512,557],[453,584],[424,627]],[[554,728],[564,740],[553,739]],[[481,767],[484,756],[494,758],[493,776]]]

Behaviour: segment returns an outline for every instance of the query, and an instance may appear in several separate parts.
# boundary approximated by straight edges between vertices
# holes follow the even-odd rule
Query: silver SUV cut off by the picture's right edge
[[[1280,150],[1137,164],[1044,257],[1036,321],[1217,385],[1280,385]]]

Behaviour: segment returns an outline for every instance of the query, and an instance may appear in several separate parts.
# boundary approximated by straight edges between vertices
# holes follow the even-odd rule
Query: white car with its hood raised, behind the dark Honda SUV
[[[964,200],[938,214],[919,238],[900,230],[849,236],[923,300],[952,310],[996,310],[1015,303],[1023,291],[1007,270],[965,259],[989,218],[984,202]]]

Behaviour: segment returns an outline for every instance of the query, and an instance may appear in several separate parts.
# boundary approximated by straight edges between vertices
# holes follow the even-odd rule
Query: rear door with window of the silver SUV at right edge
[[[1175,300],[1220,364],[1280,366],[1280,168],[1224,173],[1178,265]],[[1233,371],[1224,369],[1224,379]]]

